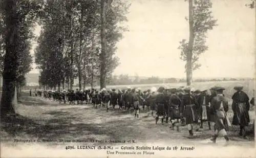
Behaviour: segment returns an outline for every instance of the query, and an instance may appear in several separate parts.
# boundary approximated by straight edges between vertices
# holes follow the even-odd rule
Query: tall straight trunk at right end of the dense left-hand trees
[[[105,64],[106,64],[106,3],[105,0],[101,0],[101,27],[100,27],[100,43],[101,43],[101,53],[100,53],[100,89],[106,87],[105,78]]]

